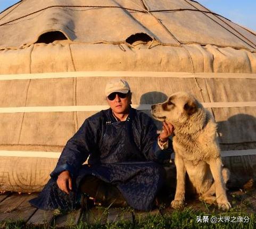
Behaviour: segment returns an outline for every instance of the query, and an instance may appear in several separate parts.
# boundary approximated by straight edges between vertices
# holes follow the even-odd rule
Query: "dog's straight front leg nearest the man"
[[[186,168],[184,161],[181,158],[175,158],[175,165],[177,171],[177,186],[174,200],[171,201],[171,207],[180,209],[184,207],[185,203],[185,175]]]

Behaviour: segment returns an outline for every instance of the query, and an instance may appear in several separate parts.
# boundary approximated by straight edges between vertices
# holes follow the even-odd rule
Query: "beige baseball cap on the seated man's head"
[[[112,80],[106,84],[105,94],[109,96],[113,92],[128,93],[130,90],[129,84],[125,80]]]

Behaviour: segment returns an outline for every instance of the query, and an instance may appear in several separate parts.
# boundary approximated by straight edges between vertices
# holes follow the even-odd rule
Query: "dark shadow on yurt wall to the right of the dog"
[[[256,118],[254,116],[237,114],[217,124],[221,151],[256,149]],[[256,155],[224,156],[222,163],[230,171],[227,188],[249,189],[255,186]]]

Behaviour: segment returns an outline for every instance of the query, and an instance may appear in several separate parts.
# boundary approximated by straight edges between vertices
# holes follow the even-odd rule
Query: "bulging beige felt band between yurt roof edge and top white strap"
[[[35,44],[0,50],[0,74],[66,71],[256,73],[256,53],[207,45]]]

